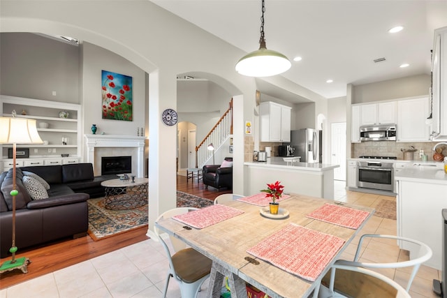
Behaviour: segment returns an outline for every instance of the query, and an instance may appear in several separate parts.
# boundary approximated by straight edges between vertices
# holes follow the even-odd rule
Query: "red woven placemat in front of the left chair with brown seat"
[[[185,214],[173,216],[176,221],[186,223],[196,229],[203,229],[210,225],[220,223],[228,218],[243,214],[244,211],[228,207],[223,204],[215,204]]]

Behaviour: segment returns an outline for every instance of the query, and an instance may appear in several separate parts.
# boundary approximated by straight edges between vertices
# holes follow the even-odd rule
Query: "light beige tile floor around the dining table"
[[[382,199],[395,200],[394,197],[357,193],[344,190],[344,182],[335,183],[336,200],[374,207]],[[373,216],[359,234],[396,234],[396,221]],[[344,257],[352,260],[358,240],[354,239],[346,249]],[[405,251],[393,242],[369,241],[363,260],[399,260],[408,258]],[[161,297],[161,291],[166,278],[168,262],[161,245],[148,239],[133,244],[118,251],[101,255],[97,258],[82,262],[65,269],[54,271],[14,285],[0,291],[0,298],[25,297]],[[405,285],[409,276],[407,269],[386,269],[381,271],[398,283]],[[410,294],[413,298],[437,297],[432,292],[432,280],[441,278],[441,271],[422,266],[411,285]],[[206,294],[207,281],[199,297]],[[180,297],[177,283],[172,280],[168,290],[168,297]]]

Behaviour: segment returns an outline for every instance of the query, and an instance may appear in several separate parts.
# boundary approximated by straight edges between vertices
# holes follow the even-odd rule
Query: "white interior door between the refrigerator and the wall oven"
[[[346,181],[346,122],[330,125],[330,163],[340,165],[334,169],[334,179]]]

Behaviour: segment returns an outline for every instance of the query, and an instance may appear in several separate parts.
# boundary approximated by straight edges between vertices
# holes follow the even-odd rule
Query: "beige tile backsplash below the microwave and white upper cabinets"
[[[417,151],[414,152],[414,161],[420,161],[419,151],[423,149],[424,154],[427,154],[427,161],[433,161],[434,151],[432,150],[437,142],[409,142],[398,143],[394,141],[381,142],[361,142],[351,144],[351,158],[358,158],[359,156],[396,156],[398,160],[404,159],[404,154],[401,149],[410,149],[413,146]],[[444,146],[444,155],[447,155],[447,146]]]

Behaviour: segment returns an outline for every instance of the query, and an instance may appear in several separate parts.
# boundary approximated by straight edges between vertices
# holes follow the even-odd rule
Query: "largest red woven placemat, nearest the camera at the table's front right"
[[[291,223],[249,248],[254,255],[291,274],[315,281],[344,240]]]

